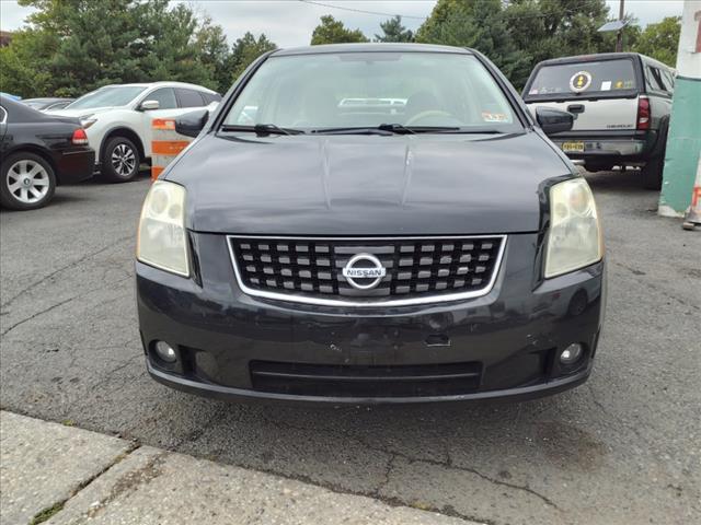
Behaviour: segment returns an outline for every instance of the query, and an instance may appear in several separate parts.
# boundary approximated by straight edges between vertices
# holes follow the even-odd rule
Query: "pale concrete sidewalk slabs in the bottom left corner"
[[[475,525],[0,412],[3,523]]]

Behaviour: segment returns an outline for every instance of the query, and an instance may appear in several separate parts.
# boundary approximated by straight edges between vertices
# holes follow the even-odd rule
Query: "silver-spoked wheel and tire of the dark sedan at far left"
[[[0,205],[10,210],[36,210],[49,203],[56,175],[42,156],[25,151],[8,155],[0,167]]]

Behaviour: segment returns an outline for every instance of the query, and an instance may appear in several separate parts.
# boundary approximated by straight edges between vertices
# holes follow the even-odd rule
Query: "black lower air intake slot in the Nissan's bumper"
[[[252,361],[253,388],[318,397],[457,396],[480,386],[480,363],[402,366],[319,365]]]

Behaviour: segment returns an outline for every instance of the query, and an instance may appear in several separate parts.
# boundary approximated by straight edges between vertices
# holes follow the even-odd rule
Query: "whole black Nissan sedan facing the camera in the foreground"
[[[276,50],[152,185],[146,363],[226,399],[529,398],[591,371],[604,318],[587,183],[470,49]]]

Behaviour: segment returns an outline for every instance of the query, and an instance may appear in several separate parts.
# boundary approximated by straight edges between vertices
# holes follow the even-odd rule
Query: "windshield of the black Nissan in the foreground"
[[[474,56],[399,51],[273,56],[223,125],[308,132],[381,125],[424,132],[521,129],[504,92]]]

